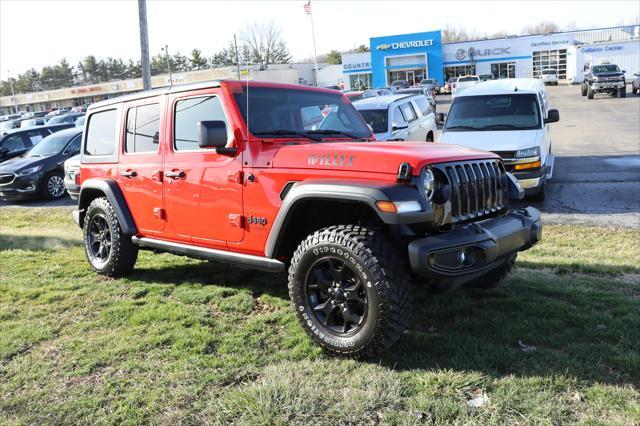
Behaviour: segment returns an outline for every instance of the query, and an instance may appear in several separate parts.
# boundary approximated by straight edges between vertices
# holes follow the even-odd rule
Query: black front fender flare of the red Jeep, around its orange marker
[[[295,216],[295,208],[305,201],[347,201],[367,205],[380,220],[388,225],[430,222],[433,210],[426,199],[411,185],[390,182],[344,182],[344,181],[304,181],[296,183],[286,194],[280,210],[269,231],[265,243],[265,254],[273,257],[284,239],[284,230]],[[376,206],[376,201],[418,201],[419,212],[385,213]]]

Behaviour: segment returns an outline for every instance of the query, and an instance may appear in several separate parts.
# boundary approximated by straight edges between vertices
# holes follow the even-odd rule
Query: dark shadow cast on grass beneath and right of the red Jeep
[[[285,274],[207,262],[136,269],[129,278],[154,284],[215,284],[288,300]],[[640,384],[640,284],[519,268],[503,289],[433,296],[414,287],[414,294],[407,332],[382,359],[370,362],[394,370],[567,375]]]

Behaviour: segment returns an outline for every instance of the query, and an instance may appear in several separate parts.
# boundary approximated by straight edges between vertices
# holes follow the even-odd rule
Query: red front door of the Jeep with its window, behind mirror
[[[164,164],[168,236],[209,247],[241,241],[242,156],[198,146],[198,122],[222,120],[229,126],[221,99],[210,90],[176,96],[171,109],[172,143]]]

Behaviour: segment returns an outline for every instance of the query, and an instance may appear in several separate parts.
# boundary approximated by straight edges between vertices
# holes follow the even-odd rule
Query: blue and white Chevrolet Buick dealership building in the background
[[[394,80],[441,84],[465,74],[491,78],[538,78],[556,70],[579,83],[590,65],[613,63],[627,79],[640,72],[640,26],[620,26],[498,39],[442,43],[440,31],[372,37],[370,52],[342,55],[346,89],[382,87]]]

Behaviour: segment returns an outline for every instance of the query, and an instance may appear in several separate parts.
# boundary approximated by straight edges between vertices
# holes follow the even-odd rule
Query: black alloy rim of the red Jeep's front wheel
[[[306,277],[306,295],[316,319],[333,332],[356,333],[365,321],[364,282],[338,257],[315,262]]]

